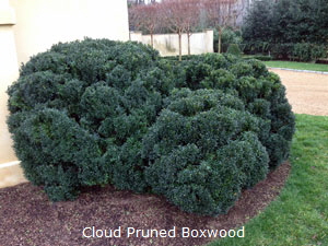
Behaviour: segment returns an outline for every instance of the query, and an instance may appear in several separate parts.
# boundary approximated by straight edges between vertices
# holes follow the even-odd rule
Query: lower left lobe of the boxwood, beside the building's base
[[[9,125],[26,177],[44,185],[51,200],[74,198],[80,185],[108,181],[96,136],[65,112],[36,108],[15,113]]]

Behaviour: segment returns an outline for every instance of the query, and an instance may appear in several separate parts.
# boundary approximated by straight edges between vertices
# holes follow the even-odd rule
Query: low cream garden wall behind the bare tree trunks
[[[130,40],[151,45],[151,36],[142,35],[141,32],[131,32]],[[161,56],[177,56],[179,54],[179,43],[177,34],[155,34],[153,35],[154,48]],[[183,55],[188,55],[188,36],[181,36]],[[213,31],[207,30],[203,33],[194,33],[190,36],[190,54],[199,55],[213,52]]]

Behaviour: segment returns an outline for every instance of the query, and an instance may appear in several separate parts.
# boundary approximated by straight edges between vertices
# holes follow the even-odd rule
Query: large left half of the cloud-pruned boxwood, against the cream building
[[[26,177],[51,200],[107,183],[142,191],[141,139],[173,87],[161,66],[148,46],[106,39],[33,57],[8,91]]]

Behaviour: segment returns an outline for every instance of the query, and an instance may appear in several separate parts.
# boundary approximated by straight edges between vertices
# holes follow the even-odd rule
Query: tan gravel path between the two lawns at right
[[[296,114],[328,116],[328,74],[269,69],[277,73]]]

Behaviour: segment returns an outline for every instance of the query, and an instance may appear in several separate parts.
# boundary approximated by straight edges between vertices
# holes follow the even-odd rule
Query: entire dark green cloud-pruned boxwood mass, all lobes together
[[[113,184],[224,213],[288,157],[294,131],[279,78],[231,55],[175,63],[130,42],[58,44],[8,93],[25,176],[54,201]]]

